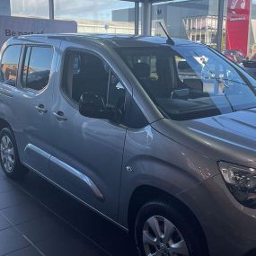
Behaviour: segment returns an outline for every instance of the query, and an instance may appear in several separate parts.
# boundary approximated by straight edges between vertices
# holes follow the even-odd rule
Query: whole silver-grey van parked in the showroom
[[[256,82],[241,67],[186,40],[64,34],[8,40],[0,74],[8,177],[37,172],[143,256],[256,255]]]

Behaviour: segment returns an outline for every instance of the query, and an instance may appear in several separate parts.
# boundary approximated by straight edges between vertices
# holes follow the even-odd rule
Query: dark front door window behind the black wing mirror
[[[93,93],[102,97],[106,106],[124,107],[125,87],[101,57],[70,50],[64,75],[64,90],[73,102],[78,103],[83,93]]]

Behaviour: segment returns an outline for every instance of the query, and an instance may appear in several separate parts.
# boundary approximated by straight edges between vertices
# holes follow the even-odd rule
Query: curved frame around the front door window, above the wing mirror
[[[66,81],[66,55],[70,52],[82,52],[84,54],[91,54],[94,57],[99,57],[100,59],[102,59],[102,61],[104,61],[107,65],[110,66],[110,72],[113,75],[116,75],[119,79],[119,81],[121,82],[121,84],[124,86],[126,92],[125,92],[125,102],[124,102],[124,118],[123,119],[127,119],[128,117],[128,109],[130,106],[130,102],[132,99],[132,96],[128,93],[128,89],[126,84],[123,82],[122,79],[120,79],[119,75],[117,75],[117,72],[115,71],[115,69],[113,68],[113,66],[110,65],[110,62],[108,61],[107,58],[102,57],[99,53],[93,51],[93,50],[88,50],[88,49],[81,49],[81,48],[75,48],[75,47],[69,47],[66,48],[65,51],[63,52],[62,55],[62,60],[61,60],[61,68],[60,68],[60,85],[59,85],[59,90],[60,93],[63,95],[64,99],[66,100],[66,102],[69,103],[69,105],[74,108],[75,110],[79,110],[79,102],[75,102],[72,98],[70,98],[67,93],[66,93],[66,89],[65,86],[66,84],[64,83],[64,81]],[[108,82],[108,86],[109,86],[109,82]],[[109,88],[107,88],[107,90],[109,90]],[[130,96],[129,96],[130,95]]]

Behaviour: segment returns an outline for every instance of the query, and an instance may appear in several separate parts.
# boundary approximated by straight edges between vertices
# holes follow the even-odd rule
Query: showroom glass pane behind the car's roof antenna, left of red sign
[[[152,34],[163,36],[162,22],[173,38],[216,48],[217,1],[194,0],[153,4]]]

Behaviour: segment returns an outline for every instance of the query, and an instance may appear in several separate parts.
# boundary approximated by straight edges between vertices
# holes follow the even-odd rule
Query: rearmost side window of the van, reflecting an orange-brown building
[[[16,85],[21,45],[11,45],[4,50],[1,60],[0,81],[12,86]]]

